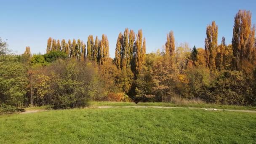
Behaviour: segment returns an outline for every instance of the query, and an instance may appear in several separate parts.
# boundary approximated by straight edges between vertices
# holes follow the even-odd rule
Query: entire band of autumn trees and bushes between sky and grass
[[[109,57],[106,35],[78,40],[49,37],[45,54],[30,47],[22,55],[0,41],[0,102],[15,107],[51,104],[85,107],[88,101],[202,100],[207,103],[256,105],[256,40],[251,12],[235,15],[232,43],[218,26],[206,27],[205,48],[190,50],[166,35],[162,50],[146,53],[142,30],[126,28]]]

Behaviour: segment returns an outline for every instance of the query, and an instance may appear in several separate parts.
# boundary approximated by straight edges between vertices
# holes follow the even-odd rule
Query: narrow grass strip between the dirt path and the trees
[[[162,107],[198,107],[198,108],[216,108],[216,109],[236,109],[236,110],[256,110],[256,107],[237,106],[237,105],[218,105],[218,104],[174,104],[164,102],[114,102],[114,101],[92,101],[91,107],[99,106],[162,106]]]

